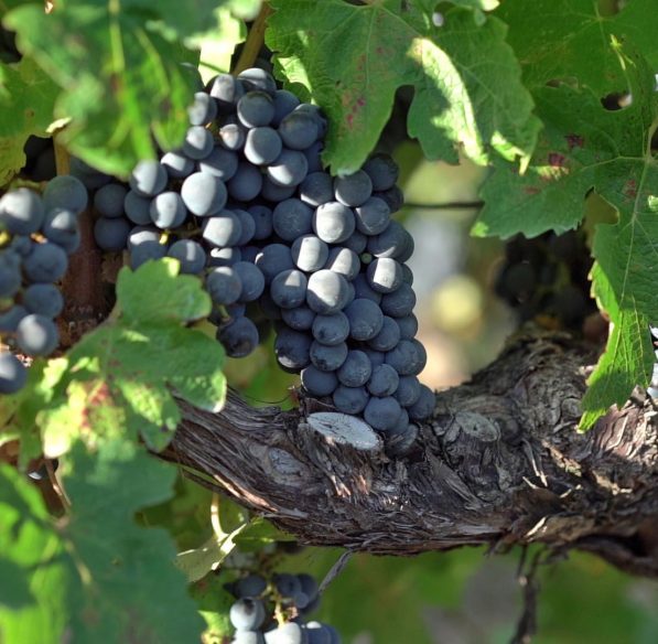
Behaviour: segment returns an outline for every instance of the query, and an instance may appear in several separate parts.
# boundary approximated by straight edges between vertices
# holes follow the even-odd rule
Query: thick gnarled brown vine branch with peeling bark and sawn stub
[[[236,395],[218,415],[183,405],[168,458],[309,545],[411,555],[542,543],[658,577],[656,407],[637,391],[578,433],[595,359],[567,335],[517,336],[470,383],[436,394],[404,458]]]

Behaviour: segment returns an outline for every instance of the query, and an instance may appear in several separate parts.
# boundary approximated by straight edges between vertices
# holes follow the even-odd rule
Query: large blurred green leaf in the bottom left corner
[[[64,469],[72,509],[53,522],[39,491],[0,465],[0,568],[20,569],[0,577],[11,602],[0,603],[0,640],[198,641],[203,622],[170,537],[134,523],[137,511],[171,497],[175,470],[121,440],[97,454],[78,442]]]

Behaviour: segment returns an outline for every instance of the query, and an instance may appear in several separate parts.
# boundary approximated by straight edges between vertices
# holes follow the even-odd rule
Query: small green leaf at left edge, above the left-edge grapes
[[[0,185],[25,164],[28,138],[46,136],[57,94],[57,86],[31,58],[0,62]]]

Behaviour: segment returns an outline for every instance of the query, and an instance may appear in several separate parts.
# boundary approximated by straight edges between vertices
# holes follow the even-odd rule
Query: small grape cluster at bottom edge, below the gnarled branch
[[[231,644],[341,642],[333,626],[304,621],[320,604],[317,583],[310,575],[274,575],[269,583],[260,575],[248,575],[229,584],[228,590],[237,599],[228,615],[236,629]]]

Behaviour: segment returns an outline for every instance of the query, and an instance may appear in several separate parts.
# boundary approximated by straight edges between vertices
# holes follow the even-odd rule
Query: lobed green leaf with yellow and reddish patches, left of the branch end
[[[173,393],[222,408],[222,346],[183,326],[207,315],[211,301],[197,278],[177,270],[168,259],[119,273],[117,313],[73,347],[36,414],[44,453],[62,454],[78,437],[94,446],[125,433],[162,450],[181,419]]]

